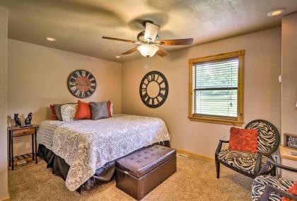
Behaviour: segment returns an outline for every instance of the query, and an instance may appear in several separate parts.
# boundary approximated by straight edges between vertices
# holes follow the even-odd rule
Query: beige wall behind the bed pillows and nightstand
[[[97,81],[93,96],[81,101],[115,103],[115,113],[121,113],[122,64],[81,54],[8,40],[8,116],[27,116],[33,112],[33,123],[51,117],[51,103],[77,102],[66,86],[71,71],[86,69]],[[16,138],[16,154],[28,152],[25,142],[30,137]]]

